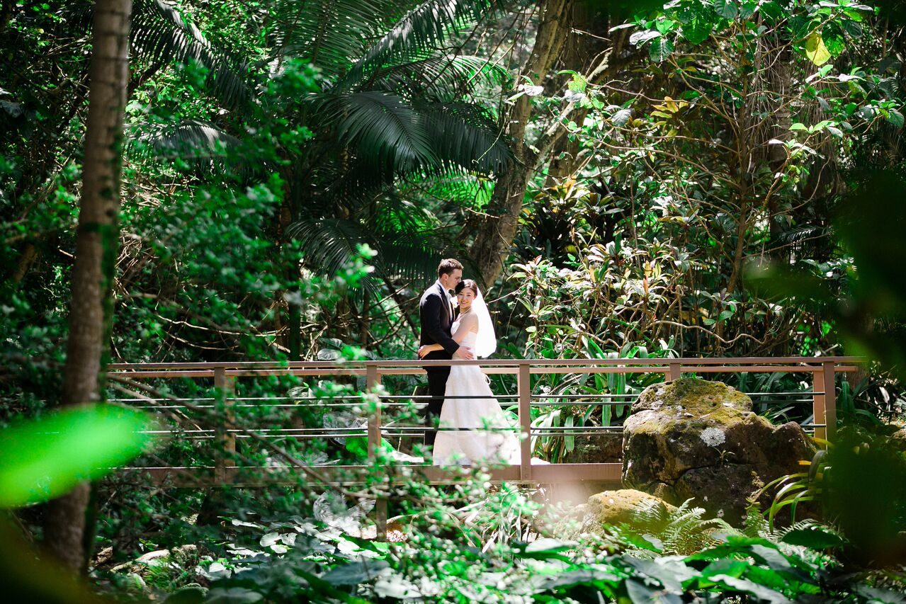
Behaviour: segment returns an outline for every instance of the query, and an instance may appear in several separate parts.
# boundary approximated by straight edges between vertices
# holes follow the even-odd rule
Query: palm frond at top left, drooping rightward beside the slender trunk
[[[207,85],[227,107],[240,107],[251,95],[240,75],[245,65],[218,52],[194,24],[166,0],[136,0],[130,30],[132,53],[149,62],[195,61],[209,71]]]

